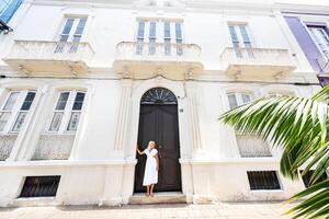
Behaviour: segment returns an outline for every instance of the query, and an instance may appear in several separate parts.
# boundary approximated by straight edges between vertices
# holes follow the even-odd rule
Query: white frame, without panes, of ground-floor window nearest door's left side
[[[68,100],[66,102],[65,108],[64,110],[56,110],[56,106],[58,104],[60,94],[61,93],[66,93],[66,92],[69,93],[69,96],[68,96]],[[76,100],[76,96],[77,96],[77,93],[84,93],[84,99],[83,99],[83,103],[82,103],[81,110],[78,110],[78,111],[77,110],[72,110],[73,104],[75,104],[75,100]],[[61,90],[61,91],[58,91],[57,95],[56,95],[55,104],[53,106],[50,120],[49,120],[49,123],[47,125],[46,132],[47,134],[76,134],[77,130],[78,130],[78,128],[79,128],[79,126],[80,126],[80,123],[81,123],[81,118],[82,118],[81,115],[82,115],[82,112],[83,112],[83,108],[84,108],[84,104],[86,104],[86,96],[87,96],[87,92],[86,91],[81,91],[81,90]],[[79,120],[78,120],[77,129],[76,130],[68,130],[68,125],[69,125],[69,122],[70,122],[71,114],[72,113],[77,113],[77,112],[80,113],[80,117],[79,117]],[[58,130],[50,130],[50,126],[52,126],[55,113],[64,113],[64,115],[61,117]]]

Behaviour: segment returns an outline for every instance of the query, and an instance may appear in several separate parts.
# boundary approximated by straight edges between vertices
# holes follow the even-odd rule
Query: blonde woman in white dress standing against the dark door
[[[144,172],[143,185],[146,186],[146,196],[154,196],[155,184],[158,183],[159,171],[159,157],[156,149],[156,142],[149,141],[147,148],[140,151],[137,146],[137,152],[139,155],[146,154],[146,164]]]

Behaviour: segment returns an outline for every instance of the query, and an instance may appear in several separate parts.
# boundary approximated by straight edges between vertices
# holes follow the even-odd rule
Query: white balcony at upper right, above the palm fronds
[[[287,49],[232,48],[222,54],[224,70],[229,76],[280,78],[296,69]]]

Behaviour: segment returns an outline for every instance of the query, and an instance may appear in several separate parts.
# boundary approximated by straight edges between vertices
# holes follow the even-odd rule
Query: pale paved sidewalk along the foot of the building
[[[281,203],[220,203],[214,205],[131,205],[123,207],[67,206],[0,208],[1,219],[158,219],[288,218],[282,214],[290,205]]]

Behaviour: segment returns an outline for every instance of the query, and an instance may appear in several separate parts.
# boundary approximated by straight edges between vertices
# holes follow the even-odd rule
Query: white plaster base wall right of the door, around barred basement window
[[[277,175],[282,189],[250,191],[247,171],[277,171],[275,159],[196,161],[192,164],[194,195],[217,200],[282,200],[304,188],[302,181],[292,182]],[[234,171],[232,171],[234,170]]]

